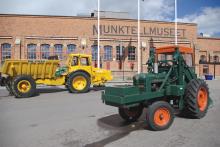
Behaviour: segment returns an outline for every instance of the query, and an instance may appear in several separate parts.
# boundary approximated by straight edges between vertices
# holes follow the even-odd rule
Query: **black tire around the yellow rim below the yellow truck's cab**
[[[73,86],[73,82],[74,79],[76,79],[77,77],[82,77],[85,79],[86,84],[84,85],[83,89],[79,88],[77,89],[76,87]],[[69,90],[70,93],[85,93],[88,92],[90,89],[90,77],[88,76],[88,74],[84,73],[84,72],[75,72],[72,73],[68,79],[67,79],[67,88]]]

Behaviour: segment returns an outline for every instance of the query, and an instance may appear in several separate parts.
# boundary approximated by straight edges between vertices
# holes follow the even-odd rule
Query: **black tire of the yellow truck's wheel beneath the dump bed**
[[[27,87],[29,88],[29,90],[27,91],[19,90],[18,87],[21,84],[20,82],[28,83],[29,85]],[[20,76],[15,77],[13,79],[11,87],[12,87],[13,94],[15,95],[16,98],[32,97],[35,95],[35,92],[36,92],[36,83],[34,79],[31,76],[27,76],[27,75],[20,75]]]

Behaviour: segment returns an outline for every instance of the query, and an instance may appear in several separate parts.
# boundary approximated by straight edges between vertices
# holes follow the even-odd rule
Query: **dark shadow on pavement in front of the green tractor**
[[[140,120],[142,120],[140,118]],[[110,131],[110,136],[97,142],[87,144],[85,147],[103,147],[106,144],[119,140],[127,136],[130,132],[146,129],[144,121],[127,123],[121,119],[118,114],[100,118],[97,122],[98,126]]]

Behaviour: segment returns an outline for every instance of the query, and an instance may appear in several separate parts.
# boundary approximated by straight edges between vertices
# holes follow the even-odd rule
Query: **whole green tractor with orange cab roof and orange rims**
[[[137,121],[147,108],[150,129],[165,130],[175,114],[202,118],[212,103],[206,82],[198,79],[193,65],[193,49],[182,46],[150,48],[148,73],[133,77],[133,85],[106,87],[102,100],[119,108],[127,122]]]

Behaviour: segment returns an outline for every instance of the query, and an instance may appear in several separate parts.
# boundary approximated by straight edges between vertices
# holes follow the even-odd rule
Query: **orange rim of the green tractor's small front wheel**
[[[166,108],[159,108],[154,113],[154,123],[158,126],[165,126],[170,121],[170,112]]]

